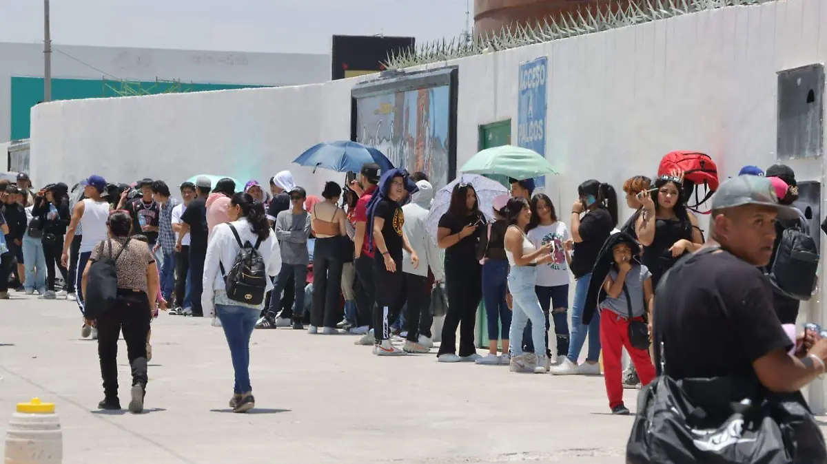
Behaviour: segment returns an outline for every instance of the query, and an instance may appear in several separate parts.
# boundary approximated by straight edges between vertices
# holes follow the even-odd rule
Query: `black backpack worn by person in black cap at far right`
[[[815,240],[801,227],[785,229],[769,268],[773,290],[799,301],[810,300],[815,290],[819,259]]]

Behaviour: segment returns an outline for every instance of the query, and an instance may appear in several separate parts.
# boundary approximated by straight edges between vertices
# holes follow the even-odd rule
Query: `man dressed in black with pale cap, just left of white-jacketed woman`
[[[207,258],[207,198],[213,189],[213,182],[203,176],[195,179],[198,196],[189,202],[181,215],[181,230],[175,251],[181,250],[181,239],[189,232],[189,285],[193,307],[184,315],[203,317],[201,293],[203,291],[204,259]]]

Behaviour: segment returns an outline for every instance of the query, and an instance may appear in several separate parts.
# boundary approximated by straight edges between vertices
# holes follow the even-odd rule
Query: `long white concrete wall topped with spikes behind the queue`
[[[675,149],[710,154],[722,178],[744,164],[766,168],[775,162],[776,73],[827,59],[821,3],[729,7],[450,63],[460,69],[457,166],[476,153],[481,124],[510,118],[516,140],[519,64],[546,55],[546,153],[561,173],[547,190],[562,217],[579,183],[597,178],[620,191],[625,178],[654,176]],[[290,161],[319,141],[349,138],[349,91],[364,79],[39,106],[31,173],[43,182],[89,173],[179,182],[201,172],[263,180],[290,168],[318,193],[329,174]],[[822,159],[788,164],[800,181],[824,177]],[[825,296],[802,306],[802,319],[827,323]],[[824,410],[816,386],[811,404]]]

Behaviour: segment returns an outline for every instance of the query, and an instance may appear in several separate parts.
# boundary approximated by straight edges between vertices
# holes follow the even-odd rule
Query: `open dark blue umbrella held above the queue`
[[[379,164],[383,173],[394,168],[378,149],[350,140],[313,145],[293,162],[313,170],[323,168],[338,173],[358,173],[365,163]]]

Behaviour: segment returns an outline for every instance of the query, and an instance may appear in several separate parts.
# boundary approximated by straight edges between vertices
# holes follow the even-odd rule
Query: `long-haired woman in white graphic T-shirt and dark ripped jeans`
[[[566,242],[571,240],[571,234],[566,223],[557,220],[557,211],[554,203],[545,193],[538,193],[531,199],[531,221],[526,227],[528,239],[535,247],[542,247],[546,244],[552,245],[552,259],[537,267],[537,297],[540,307],[543,308],[546,330],[546,355],[549,362],[562,362],[562,358],[568,354],[569,328],[568,328],[568,286],[569,274],[568,264],[571,256],[566,249]],[[554,334],[557,336],[557,354],[552,358],[548,346],[549,312],[554,320]],[[523,349],[533,351],[534,344],[531,338],[532,322],[523,333]]]

